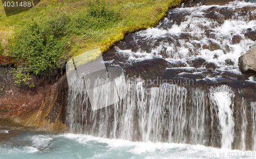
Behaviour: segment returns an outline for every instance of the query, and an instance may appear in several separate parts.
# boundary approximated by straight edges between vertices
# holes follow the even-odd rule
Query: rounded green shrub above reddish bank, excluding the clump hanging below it
[[[58,39],[58,31],[48,33],[37,22],[32,22],[28,29],[18,33],[15,38],[13,55],[19,63],[35,74],[60,67],[58,60],[65,52],[65,40]],[[49,72],[48,72],[49,73]]]

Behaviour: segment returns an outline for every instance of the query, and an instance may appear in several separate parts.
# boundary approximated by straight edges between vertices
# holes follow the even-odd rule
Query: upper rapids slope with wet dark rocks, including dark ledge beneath
[[[189,75],[185,70],[185,74],[173,70],[167,76],[191,77],[207,82],[211,81],[208,79],[210,77],[214,78],[214,82],[209,83],[221,79],[220,83],[236,82],[237,85],[238,82],[243,86],[248,77],[239,73],[238,58],[255,40],[256,26],[246,23],[251,24],[251,20],[255,19],[256,8],[242,3],[188,1],[176,9],[170,9],[156,28],[126,35],[106,51],[103,55],[105,65],[121,67],[130,77],[145,78],[166,76],[163,72],[169,68],[201,68],[194,69]],[[238,24],[230,20],[242,20],[244,26],[237,28]],[[225,78],[217,78],[222,74],[225,74]]]

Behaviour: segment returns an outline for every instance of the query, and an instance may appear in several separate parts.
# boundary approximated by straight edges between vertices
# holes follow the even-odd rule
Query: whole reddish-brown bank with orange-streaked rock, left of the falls
[[[0,67],[0,119],[10,121],[9,126],[18,124],[40,130],[65,130],[65,125],[59,122],[60,113],[55,109],[63,78],[51,82],[32,75],[35,87],[15,86],[10,70],[10,67]]]

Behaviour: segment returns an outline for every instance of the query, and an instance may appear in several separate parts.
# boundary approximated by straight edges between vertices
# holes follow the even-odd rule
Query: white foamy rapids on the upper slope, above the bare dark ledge
[[[238,58],[254,44],[244,33],[247,29],[256,29],[256,20],[250,18],[256,16],[256,10],[252,9],[250,14],[240,14],[240,10],[255,6],[256,4],[235,1],[225,6],[175,8],[167,13],[156,28],[134,33],[135,38],[130,43],[136,45],[135,48],[116,47],[117,54],[128,56],[128,63],[154,58],[167,61],[178,59],[183,62],[203,58],[215,63],[219,70],[240,74]],[[233,14],[229,17],[229,14],[225,15],[223,12]],[[177,16],[182,20],[176,20]],[[211,19],[211,16],[215,16],[215,19]],[[234,37],[239,37],[239,40],[233,42]],[[233,63],[227,64],[226,60]]]

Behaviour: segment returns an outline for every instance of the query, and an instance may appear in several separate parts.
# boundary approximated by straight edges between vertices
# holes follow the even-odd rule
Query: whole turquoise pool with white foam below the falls
[[[44,149],[31,141],[51,138]],[[15,144],[10,144],[15,142]],[[202,145],[131,142],[88,135],[23,132],[0,145],[0,158],[254,158],[254,151],[226,150]]]

